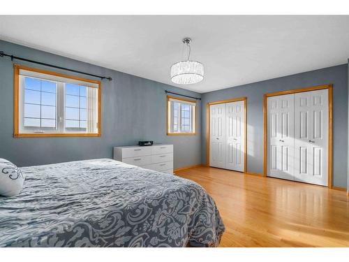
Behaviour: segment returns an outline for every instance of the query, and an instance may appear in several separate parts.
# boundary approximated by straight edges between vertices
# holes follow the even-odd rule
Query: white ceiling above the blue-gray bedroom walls
[[[174,85],[185,36],[205,79]],[[0,16],[0,38],[205,93],[347,63],[349,16]]]

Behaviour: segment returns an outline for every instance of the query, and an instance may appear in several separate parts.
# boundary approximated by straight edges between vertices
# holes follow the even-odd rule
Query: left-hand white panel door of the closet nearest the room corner
[[[216,168],[225,168],[226,129],[225,104],[209,107],[209,163]]]

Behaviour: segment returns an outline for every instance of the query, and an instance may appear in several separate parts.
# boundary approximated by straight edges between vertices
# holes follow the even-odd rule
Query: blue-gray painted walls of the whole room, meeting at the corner
[[[102,82],[101,138],[13,138],[13,65],[8,58],[0,59],[0,158],[9,159],[18,166],[101,157],[110,158],[112,157],[113,146],[133,145],[138,140],[146,139],[174,145],[174,168],[191,166],[200,162],[205,163],[206,103],[246,96],[248,122],[247,171],[262,173],[263,94],[332,83],[334,85],[334,186],[347,187],[347,64],[202,94],[202,102],[198,103],[198,112],[201,112],[202,115],[202,117],[198,117],[198,135],[166,136],[164,90],[168,89],[198,97],[200,97],[200,94],[4,41],[0,41],[0,50],[20,57],[37,59],[50,64],[98,75],[107,75],[113,78],[111,82],[107,80]],[[18,62],[18,64],[25,63]],[[45,68],[33,64],[28,65]],[[45,69],[50,70],[51,68]],[[201,108],[201,105],[204,106]]]

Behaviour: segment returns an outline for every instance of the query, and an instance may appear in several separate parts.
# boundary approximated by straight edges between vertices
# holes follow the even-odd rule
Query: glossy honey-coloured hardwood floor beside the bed
[[[205,166],[176,174],[216,201],[220,247],[349,247],[346,191]]]

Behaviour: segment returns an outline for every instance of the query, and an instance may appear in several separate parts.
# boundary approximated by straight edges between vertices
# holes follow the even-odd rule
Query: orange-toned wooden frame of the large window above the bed
[[[90,80],[86,78],[80,78],[74,75],[66,75],[64,73],[57,73],[54,71],[46,71],[39,68],[32,68],[29,66],[22,66],[20,64],[14,64],[14,132],[13,137],[15,138],[43,138],[43,137],[100,137],[101,136],[101,81],[98,80]],[[98,133],[20,133],[20,69],[36,72],[36,73],[44,73],[46,75],[54,75],[61,78],[68,78],[73,80],[79,80],[83,82],[91,82],[93,84],[98,85]]]

